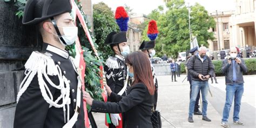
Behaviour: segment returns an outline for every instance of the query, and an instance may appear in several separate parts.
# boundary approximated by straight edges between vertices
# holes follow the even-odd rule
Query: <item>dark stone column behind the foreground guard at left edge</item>
[[[0,1],[0,127],[13,127],[24,64],[41,43],[35,26],[23,26],[14,2]]]

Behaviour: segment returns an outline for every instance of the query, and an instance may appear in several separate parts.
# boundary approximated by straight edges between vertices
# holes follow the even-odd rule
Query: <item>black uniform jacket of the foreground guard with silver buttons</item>
[[[68,80],[70,80],[70,118],[75,113],[75,106],[76,106],[76,93],[77,93],[77,73],[72,66],[72,62],[68,57],[63,57],[58,52],[51,52],[46,50],[48,44],[44,43],[42,48],[42,53],[48,52],[52,56],[51,58],[54,60],[55,64],[58,64],[60,69],[62,70],[62,75],[64,75]],[[66,52],[66,51],[65,51]],[[63,53],[63,50],[62,50]],[[68,52],[66,52],[68,53]],[[35,62],[37,63],[37,62]],[[59,85],[58,77],[57,76],[49,76],[53,83]],[[45,79],[44,81],[48,85],[53,100],[56,100],[60,96],[60,90],[52,87]],[[78,120],[73,127],[80,128],[84,126],[84,109],[83,109],[83,97],[81,92],[81,103],[80,103],[80,112],[78,114]],[[59,101],[58,104],[62,103],[62,100]],[[67,109],[67,107],[66,107]],[[67,111],[66,111],[67,112]],[[66,114],[67,116],[67,114]],[[54,106],[49,108],[49,104],[46,103],[44,100],[41,90],[38,84],[38,77],[37,74],[33,78],[32,82],[30,83],[28,89],[23,93],[21,98],[19,98],[19,102],[16,106],[15,111],[15,119],[14,119],[14,127],[15,128],[29,128],[29,127],[36,127],[36,128],[49,128],[49,127],[63,127],[64,123],[64,112],[63,108],[56,108]]]

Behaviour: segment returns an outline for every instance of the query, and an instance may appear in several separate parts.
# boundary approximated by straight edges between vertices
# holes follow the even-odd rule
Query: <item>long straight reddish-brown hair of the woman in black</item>
[[[134,82],[132,85],[141,82],[146,85],[150,95],[154,95],[155,87],[152,69],[146,54],[141,51],[132,52],[125,57],[125,63],[130,64],[134,71]]]

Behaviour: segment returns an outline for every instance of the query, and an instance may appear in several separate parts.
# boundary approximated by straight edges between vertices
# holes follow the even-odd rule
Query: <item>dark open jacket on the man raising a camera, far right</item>
[[[240,58],[241,59],[241,58]],[[235,73],[237,73],[237,83],[244,83],[244,78],[242,77],[242,72],[246,73],[247,68],[243,59],[241,59],[241,63],[238,64],[235,62]],[[223,60],[221,71],[225,74],[226,84],[233,84],[233,63],[228,64],[227,59]]]

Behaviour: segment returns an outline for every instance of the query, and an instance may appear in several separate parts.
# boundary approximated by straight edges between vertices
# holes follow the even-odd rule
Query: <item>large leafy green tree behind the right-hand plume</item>
[[[190,50],[188,9],[184,0],[170,0],[166,2],[166,8],[166,12],[161,8],[153,10],[148,17],[156,20],[158,25],[159,36],[155,48],[157,56],[166,53],[176,58],[178,52]],[[192,36],[197,36],[199,45],[208,46],[207,41],[214,39],[213,32],[208,32],[208,29],[215,27],[214,19],[208,15],[204,6],[198,3],[191,6],[190,15]],[[146,30],[143,31],[143,38]]]

